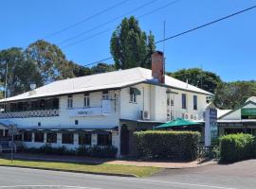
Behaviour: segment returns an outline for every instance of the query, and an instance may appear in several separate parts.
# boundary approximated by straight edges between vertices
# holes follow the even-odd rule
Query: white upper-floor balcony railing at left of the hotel
[[[27,118],[27,117],[52,117],[59,116],[58,109],[53,110],[38,110],[25,112],[0,112],[0,119],[3,118]]]

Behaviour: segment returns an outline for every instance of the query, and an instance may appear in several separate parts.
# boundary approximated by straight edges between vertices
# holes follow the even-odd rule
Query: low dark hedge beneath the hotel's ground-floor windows
[[[50,145],[45,145],[39,148],[23,146],[21,151],[53,155],[79,155],[87,157],[116,158],[118,148],[115,146],[79,146],[76,149],[68,149],[65,146],[53,147]]]

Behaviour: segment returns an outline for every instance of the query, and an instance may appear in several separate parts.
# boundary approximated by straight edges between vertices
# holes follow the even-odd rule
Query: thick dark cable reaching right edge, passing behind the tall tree
[[[156,43],[163,43],[163,42],[165,42],[165,41],[174,39],[174,38],[176,38],[176,37],[179,37],[179,36],[181,36],[181,35],[190,33],[190,32],[192,32],[192,31],[194,31],[194,30],[203,28],[203,27],[205,27],[205,26],[213,25],[213,24],[215,24],[215,23],[221,22],[221,21],[223,21],[223,20],[229,19],[230,17],[236,16],[236,15],[238,15],[238,14],[244,13],[244,12],[246,12],[246,11],[248,11],[248,10],[255,9],[255,8],[256,8],[256,5],[255,5],[255,6],[252,6],[252,7],[250,7],[250,8],[247,8],[247,9],[242,9],[242,10],[240,10],[240,11],[237,11],[237,12],[234,12],[234,13],[232,13],[232,14],[229,14],[228,16],[225,16],[225,17],[216,19],[216,20],[214,20],[214,21],[211,21],[210,23],[207,23],[207,24],[205,24],[205,25],[196,26],[196,27],[193,27],[192,29],[183,31],[183,32],[181,32],[181,33],[178,33],[178,34],[175,34],[175,35],[170,36],[170,37],[168,37],[168,38],[165,38],[165,39],[162,39],[162,40],[160,40],[160,41],[157,41],[157,42],[155,42],[155,44],[156,44]],[[113,59],[113,58],[112,58],[112,57],[109,57],[109,58],[106,58],[106,59],[103,59],[103,60],[111,60],[111,59]],[[100,61],[103,61],[103,60],[94,61],[94,62],[92,62],[92,63],[88,63],[88,64],[85,64],[85,65],[83,65],[83,66],[88,66],[88,65],[96,64],[96,63],[98,63],[98,62],[100,62]]]

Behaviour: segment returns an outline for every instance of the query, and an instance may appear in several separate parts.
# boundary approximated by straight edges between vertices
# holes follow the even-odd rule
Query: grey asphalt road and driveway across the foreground
[[[0,166],[0,189],[234,189],[256,188],[256,160],[169,169],[150,178],[121,178]]]

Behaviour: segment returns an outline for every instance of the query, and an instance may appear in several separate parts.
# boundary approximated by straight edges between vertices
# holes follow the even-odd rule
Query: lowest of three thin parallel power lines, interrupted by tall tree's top
[[[166,4],[166,5],[162,6],[162,7],[160,7],[160,8],[153,9],[153,10],[148,11],[148,12],[142,14],[142,15],[139,15],[139,16],[137,16],[137,18],[142,18],[142,17],[147,16],[147,15],[149,15],[149,14],[155,13],[156,11],[159,11],[160,9],[165,9],[165,8],[171,6],[171,5],[174,5],[175,3],[179,2],[179,1],[181,1],[181,0],[175,0],[175,1],[171,2],[171,3],[168,3],[168,4]],[[116,28],[116,27],[111,27],[111,28],[105,29],[105,30],[103,30],[103,31],[101,31],[101,32],[99,32],[99,33],[96,33],[96,34],[94,34],[94,35],[91,35],[91,36],[89,36],[89,37],[87,37],[87,38],[84,38],[84,39],[82,39],[82,40],[79,40],[79,41],[77,41],[77,42],[69,43],[69,44],[65,45],[63,48],[66,48],[66,47],[69,47],[69,46],[73,46],[73,45],[75,45],[75,44],[77,44],[77,43],[82,43],[82,42],[84,42],[84,41],[87,41],[87,40],[89,40],[89,39],[91,39],[91,38],[93,38],[93,37],[99,36],[99,35],[101,35],[101,34],[103,34],[103,33],[106,33],[106,32],[108,32],[108,31],[110,31],[110,30],[113,30],[113,29],[115,29],[115,28]]]

